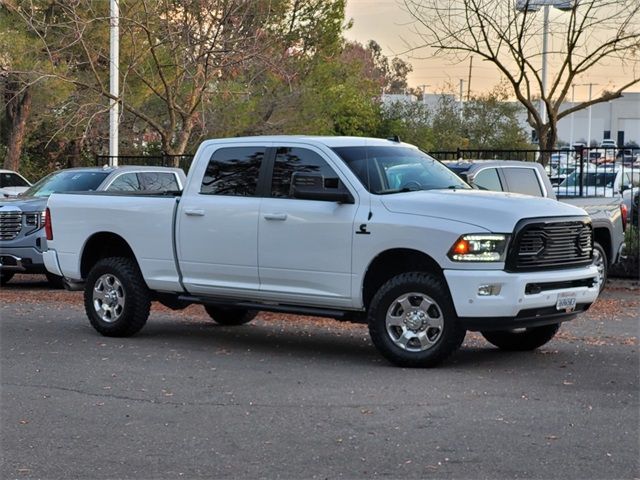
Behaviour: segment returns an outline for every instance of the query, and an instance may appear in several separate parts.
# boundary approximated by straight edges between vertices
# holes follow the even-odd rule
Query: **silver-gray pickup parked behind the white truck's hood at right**
[[[544,167],[537,162],[497,160],[444,163],[470,185],[482,190],[515,192],[557,199]],[[602,290],[606,284],[609,267],[621,259],[621,253],[624,250],[624,212],[621,209],[620,200],[619,198],[561,198],[560,200],[584,208],[591,218],[594,232],[593,262],[598,268],[598,284]]]

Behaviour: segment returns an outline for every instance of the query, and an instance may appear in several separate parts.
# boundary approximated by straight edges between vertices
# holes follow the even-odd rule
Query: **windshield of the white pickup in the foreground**
[[[334,147],[332,149],[371,193],[471,188],[429,155],[410,147]]]

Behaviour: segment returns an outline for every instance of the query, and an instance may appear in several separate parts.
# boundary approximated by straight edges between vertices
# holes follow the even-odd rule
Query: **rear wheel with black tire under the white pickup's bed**
[[[110,257],[96,263],[87,277],[84,308],[93,328],[104,336],[139,332],[149,318],[151,296],[135,261]]]

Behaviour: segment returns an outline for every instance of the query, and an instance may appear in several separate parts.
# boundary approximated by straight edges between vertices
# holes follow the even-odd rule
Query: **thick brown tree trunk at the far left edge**
[[[31,113],[31,89],[25,87],[20,92],[20,84],[17,80],[7,80],[5,100],[5,119],[8,133],[4,168],[17,171],[20,169],[20,155],[27,133],[27,119]]]

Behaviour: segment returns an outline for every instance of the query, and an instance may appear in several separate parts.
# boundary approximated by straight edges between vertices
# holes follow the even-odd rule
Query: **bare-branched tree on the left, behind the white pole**
[[[24,0],[7,6],[40,40],[37,48],[50,65],[38,73],[119,101],[155,132],[167,154],[184,153],[218,83],[264,51],[263,27],[271,14],[270,2],[255,0],[121,0],[122,88],[114,98],[108,2]]]

